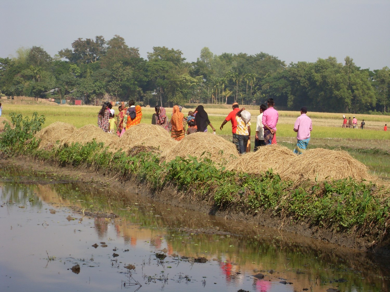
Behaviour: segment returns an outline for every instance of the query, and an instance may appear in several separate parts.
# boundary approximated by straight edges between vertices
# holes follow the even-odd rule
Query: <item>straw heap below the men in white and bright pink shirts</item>
[[[261,147],[256,152],[249,152],[232,160],[226,165],[227,170],[236,170],[253,174],[261,174],[268,169],[277,172],[282,179],[287,179],[285,169],[294,164],[297,156],[287,147],[278,144]]]

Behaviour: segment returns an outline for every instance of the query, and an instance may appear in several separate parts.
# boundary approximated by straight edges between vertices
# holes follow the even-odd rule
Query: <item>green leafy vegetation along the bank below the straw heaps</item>
[[[0,139],[0,151],[8,155],[29,155],[63,166],[89,165],[118,174],[118,179],[135,177],[156,191],[167,185],[176,186],[187,196],[204,199],[219,208],[235,208],[250,216],[269,212],[288,218],[291,223],[304,220],[334,231],[372,234],[378,240],[388,228],[388,190],[371,182],[358,183],[347,178],[295,186],[292,181],[282,181],[272,169],[262,176],[226,171],[207,158],[207,153],[201,158],[177,157],[160,162],[158,154],[112,153],[95,141],[37,150],[38,143],[31,137],[39,130],[44,117],[35,114],[32,120],[23,120],[21,116],[12,120],[20,126],[6,127]]]

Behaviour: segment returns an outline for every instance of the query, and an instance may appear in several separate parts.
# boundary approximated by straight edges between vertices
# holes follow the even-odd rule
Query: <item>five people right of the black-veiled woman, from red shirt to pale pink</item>
[[[275,102],[273,99],[267,100],[268,108],[262,104],[260,106],[260,114],[256,121],[256,134],[254,151],[259,150],[261,146],[277,144],[276,141],[276,125],[278,123],[279,114],[274,109]],[[230,121],[232,124],[232,141],[236,145],[237,151],[244,154],[247,151],[248,141],[250,141],[250,121],[245,121],[242,117],[245,107],[239,109],[237,102],[232,104],[232,111],[222,122],[220,130]],[[301,115],[297,118],[294,124],[294,132],[297,133],[297,144],[294,150],[296,154],[302,154],[310,141],[310,132],[312,131],[312,120],[306,115],[307,108],[301,108]],[[250,120],[250,118],[249,118]]]

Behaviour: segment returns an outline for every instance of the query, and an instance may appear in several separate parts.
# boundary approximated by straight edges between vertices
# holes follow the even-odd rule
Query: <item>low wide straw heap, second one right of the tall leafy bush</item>
[[[60,147],[65,145],[71,145],[72,143],[78,142],[79,144],[85,144],[92,142],[96,139],[97,143],[103,142],[105,146],[109,146],[115,150],[115,143],[118,141],[118,136],[104,132],[101,128],[95,125],[85,125],[67,137],[60,140]]]

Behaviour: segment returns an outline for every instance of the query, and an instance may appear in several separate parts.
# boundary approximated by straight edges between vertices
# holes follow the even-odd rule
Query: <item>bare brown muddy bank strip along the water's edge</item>
[[[177,189],[171,186],[165,186],[165,188],[159,192],[152,192],[147,185],[141,183],[137,179],[132,178],[128,181],[118,181],[115,174],[107,174],[104,171],[95,172],[92,169],[83,166],[77,168],[60,167],[51,162],[38,161],[28,157],[7,158],[5,160],[0,160],[0,163],[4,165],[15,165],[24,170],[38,173],[44,172],[46,176],[53,177],[53,179],[56,180],[77,181],[85,183],[87,186],[99,186],[106,192],[112,192],[118,196],[126,196],[126,189],[132,187],[133,191],[137,192],[137,195],[148,197],[172,206],[223,217],[226,220],[231,220],[232,225],[238,225],[241,226],[241,228],[243,223],[275,228],[278,230],[280,236],[291,239],[297,243],[302,243],[303,245],[321,245],[321,242],[310,240],[318,239],[326,243],[334,244],[335,246],[333,246],[333,248],[341,246],[361,252],[390,255],[389,237],[386,236],[381,243],[377,243],[375,241],[375,230],[373,230],[371,234],[360,234],[360,230],[353,230],[353,232],[349,233],[334,233],[330,229],[310,226],[305,222],[295,222],[292,218],[275,217],[268,211],[253,213],[237,206],[218,208],[213,206],[210,202],[200,200],[193,194],[177,192]],[[24,183],[37,183],[37,178],[30,179],[28,176],[23,176],[19,179]],[[247,228],[252,227],[249,227],[248,225]],[[203,233],[213,233],[214,231],[199,230],[199,232]],[[329,246],[329,248],[332,249],[332,246]]]

